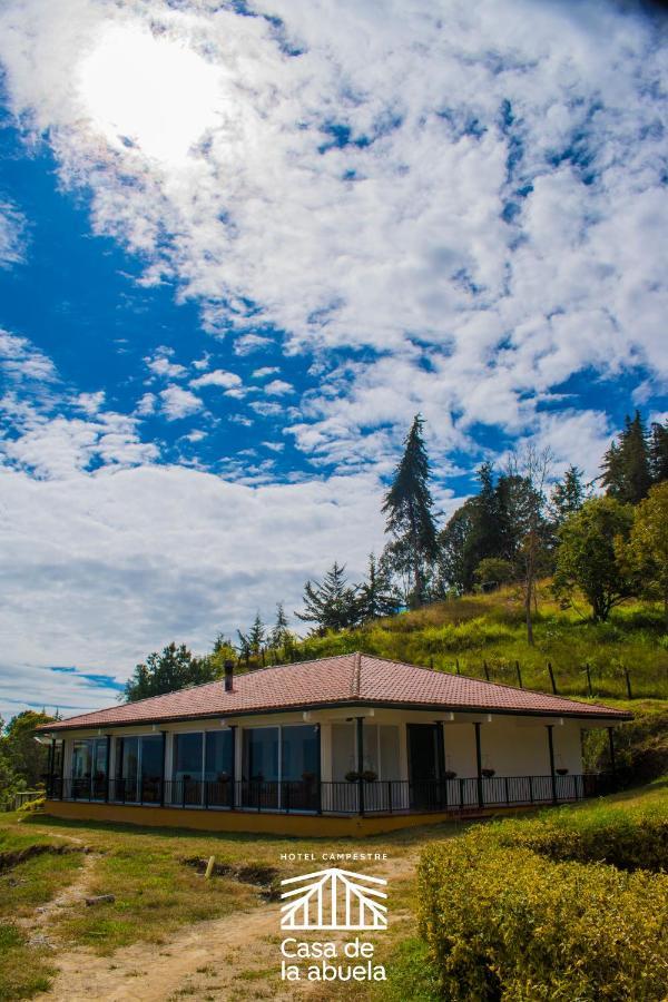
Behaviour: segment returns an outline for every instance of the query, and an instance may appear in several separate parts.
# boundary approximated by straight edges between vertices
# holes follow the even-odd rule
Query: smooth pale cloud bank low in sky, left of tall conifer
[[[367,475],[250,488],[154,465],[57,482],[0,469],[0,713],[22,708],[10,698],[69,713],[112,704],[47,667],[125,679],[170,639],[204,652],[257,609],[271,619],[283,600],[292,617],[304,581],[334,559],[360,576],[382,543]]]

